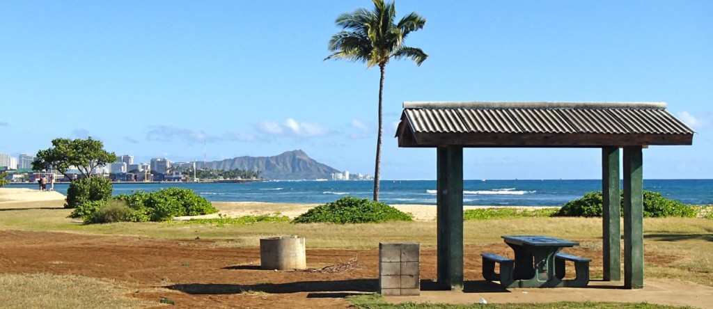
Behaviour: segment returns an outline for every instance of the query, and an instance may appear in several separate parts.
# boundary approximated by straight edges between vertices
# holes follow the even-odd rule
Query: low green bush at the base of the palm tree
[[[342,197],[332,203],[309,209],[306,213],[297,216],[292,222],[347,224],[412,220],[411,214],[406,214],[384,203],[356,197]]]

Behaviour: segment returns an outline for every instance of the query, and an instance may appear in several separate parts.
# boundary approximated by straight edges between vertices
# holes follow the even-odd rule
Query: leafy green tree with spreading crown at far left
[[[104,150],[101,140],[93,140],[91,137],[86,140],[56,138],[52,140],[52,147],[40,150],[36,157],[32,169],[56,169],[66,177],[70,177],[66,172],[71,166],[79,169],[84,177],[89,177],[96,167],[116,162],[116,155]]]

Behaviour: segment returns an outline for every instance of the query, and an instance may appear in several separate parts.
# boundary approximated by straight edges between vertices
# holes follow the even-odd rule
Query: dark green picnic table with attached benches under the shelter
[[[500,281],[506,288],[553,288],[561,286],[587,286],[589,282],[588,258],[559,253],[562,248],[579,246],[575,241],[550,236],[502,236],[515,252],[515,259],[503,258],[493,253],[482,253],[483,277]],[[574,261],[577,278],[563,280],[565,261]],[[495,263],[501,272],[494,273]]]

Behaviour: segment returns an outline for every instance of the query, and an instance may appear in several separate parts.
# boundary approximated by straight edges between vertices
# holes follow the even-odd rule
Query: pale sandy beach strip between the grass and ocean
[[[58,201],[65,199],[59,192],[40,192],[34,189],[0,188],[0,207],[2,204],[15,202],[32,201]],[[203,216],[179,216],[175,220],[187,220],[191,218],[217,218],[218,216],[259,216],[262,214],[282,214],[289,218],[294,218],[304,214],[309,209],[319,206],[319,204],[279,204],[262,203],[255,201],[215,201],[212,202],[215,208],[220,209],[217,214],[207,214]],[[391,205],[401,211],[414,215],[416,221],[431,221],[436,219],[436,205],[411,205],[395,204]],[[463,206],[463,210],[478,209],[488,206]],[[498,206],[502,207],[502,206]],[[533,206],[510,206],[522,209],[541,209]]]

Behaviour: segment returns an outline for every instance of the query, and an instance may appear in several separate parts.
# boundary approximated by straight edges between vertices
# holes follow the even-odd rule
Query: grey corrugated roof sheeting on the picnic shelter
[[[661,108],[660,103],[566,104],[482,103],[468,108],[443,104],[411,105],[404,109],[413,132],[431,133],[548,133],[548,134],[692,134],[693,131]],[[514,106],[514,108],[508,108]],[[523,108],[526,106],[526,108]],[[554,107],[553,107],[554,106]],[[665,105],[663,105],[665,107]]]

